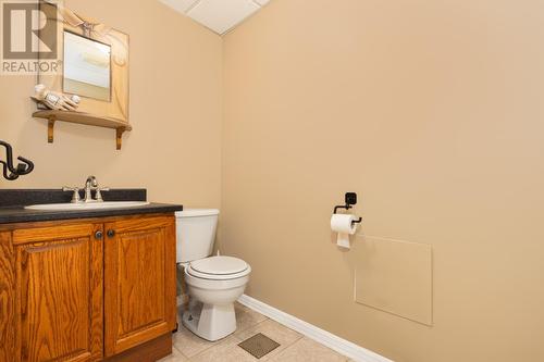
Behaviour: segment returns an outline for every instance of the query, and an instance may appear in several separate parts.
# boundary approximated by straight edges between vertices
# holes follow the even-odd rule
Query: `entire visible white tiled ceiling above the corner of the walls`
[[[159,0],[222,35],[258,12],[270,0]]]

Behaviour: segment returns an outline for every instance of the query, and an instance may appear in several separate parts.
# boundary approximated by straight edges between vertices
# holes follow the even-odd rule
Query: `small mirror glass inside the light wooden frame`
[[[64,30],[63,91],[111,99],[111,47]]]

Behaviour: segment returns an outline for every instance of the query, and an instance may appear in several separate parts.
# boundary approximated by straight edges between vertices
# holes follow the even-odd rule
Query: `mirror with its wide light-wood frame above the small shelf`
[[[54,11],[47,9],[53,7],[50,2],[53,1],[39,1],[45,14]],[[79,96],[76,113],[128,124],[128,35],[73,12],[62,0],[54,3],[62,66],[58,72],[40,72],[38,84],[52,91]]]

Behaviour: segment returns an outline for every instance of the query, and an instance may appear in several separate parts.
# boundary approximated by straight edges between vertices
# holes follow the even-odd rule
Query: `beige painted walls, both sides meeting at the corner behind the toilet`
[[[153,201],[222,195],[250,296],[397,362],[544,360],[541,2],[273,0],[224,45],[135,3],[67,1],[131,35],[123,150],[62,123],[48,145],[35,79],[0,77],[0,139],[37,166],[1,188],[96,174]],[[347,190],[364,223],[341,252]],[[432,246],[432,326],[354,302],[363,234]]]

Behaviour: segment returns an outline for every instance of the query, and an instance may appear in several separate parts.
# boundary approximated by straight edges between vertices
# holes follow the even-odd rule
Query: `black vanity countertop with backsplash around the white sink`
[[[114,189],[103,192],[103,199],[104,201],[146,201],[146,194],[145,189]],[[24,208],[29,204],[70,202],[71,198],[71,192],[59,190],[0,190],[0,224],[166,213],[183,210],[183,205],[180,204],[154,202],[135,208],[101,210],[41,211]]]

